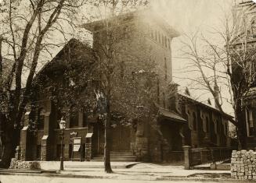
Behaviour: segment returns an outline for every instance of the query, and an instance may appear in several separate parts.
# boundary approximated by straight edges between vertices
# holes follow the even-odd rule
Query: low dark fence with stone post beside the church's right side
[[[183,146],[184,164],[186,169],[190,169],[198,164],[206,164],[218,160],[226,160],[231,157],[232,148],[228,147],[208,147],[208,148],[191,148]]]

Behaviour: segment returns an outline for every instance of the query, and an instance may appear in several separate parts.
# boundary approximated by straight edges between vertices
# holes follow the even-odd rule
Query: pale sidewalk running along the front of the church
[[[134,164],[134,165],[131,165]],[[86,167],[86,166],[88,167]],[[101,178],[117,180],[141,180],[141,181],[218,181],[218,182],[243,182],[230,178],[230,171],[210,170],[184,170],[183,166],[170,164],[150,164],[134,162],[112,162],[113,174],[106,174],[103,162],[64,162],[64,171],[57,174],[19,174],[3,173],[6,175],[29,175],[61,178]],[[125,165],[125,166],[124,166]],[[131,166],[127,168],[128,166]],[[101,167],[99,167],[101,166]],[[116,168],[115,168],[116,167]],[[120,168],[122,167],[122,168]],[[41,168],[46,171],[58,170],[59,162],[41,162]]]

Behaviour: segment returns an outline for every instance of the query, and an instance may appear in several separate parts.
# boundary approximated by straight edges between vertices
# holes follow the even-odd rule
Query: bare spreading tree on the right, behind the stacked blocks
[[[243,12],[225,12],[221,19],[222,28],[209,31],[217,35],[214,39],[197,31],[192,36],[186,35],[182,42],[183,57],[190,61],[187,70],[198,76],[190,78],[193,83],[211,93],[222,113],[224,100],[232,104],[235,118],[229,121],[236,125],[239,148],[242,149],[247,147],[244,98],[255,83],[255,51],[248,46],[252,34],[247,23],[241,24],[244,18]]]

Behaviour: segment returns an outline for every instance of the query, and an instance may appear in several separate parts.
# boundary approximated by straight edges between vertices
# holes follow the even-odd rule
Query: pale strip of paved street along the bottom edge
[[[136,180],[117,180],[117,179],[90,179],[90,178],[49,178],[49,177],[36,177],[36,176],[19,176],[19,175],[1,175],[0,180],[2,183],[60,183],[60,182],[75,182],[75,183],[165,183],[177,182],[175,181],[136,181]],[[178,182],[216,182],[216,181],[178,181]]]

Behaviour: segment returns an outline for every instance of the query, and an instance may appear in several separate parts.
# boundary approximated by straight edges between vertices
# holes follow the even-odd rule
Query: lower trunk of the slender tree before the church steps
[[[106,173],[113,173],[110,165],[110,117],[107,114],[105,121],[104,168]]]

